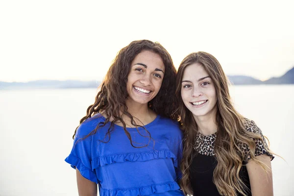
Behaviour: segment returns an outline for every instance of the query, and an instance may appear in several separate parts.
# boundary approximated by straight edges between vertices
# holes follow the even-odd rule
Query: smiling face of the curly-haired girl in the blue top
[[[148,50],[140,52],[131,62],[127,77],[127,105],[147,105],[159,92],[164,72],[165,66],[159,54]]]

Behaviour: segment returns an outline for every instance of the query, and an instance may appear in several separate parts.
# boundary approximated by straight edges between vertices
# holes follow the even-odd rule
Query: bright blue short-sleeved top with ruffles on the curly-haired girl
[[[114,125],[109,142],[100,142],[108,141],[105,134],[110,123],[79,140],[104,121],[98,114],[82,123],[65,159],[82,176],[98,184],[100,196],[183,196],[177,183],[182,155],[182,132],[177,122],[157,116],[145,125],[150,141],[144,137],[148,135],[143,128],[127,128],[133,145],[141,148],[131,146],[119,125]]]

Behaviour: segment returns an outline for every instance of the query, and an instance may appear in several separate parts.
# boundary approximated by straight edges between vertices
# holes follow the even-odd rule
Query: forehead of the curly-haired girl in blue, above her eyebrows
[[[151,68],[152,70],[154,70],[155,68],[158,68],[161,70],[165,69],[164,63],[160,55],[149,50],[143,50],[142,52],[137,54],[137,56],[132,61],[132,66],[135,65],[136,63],[143,63],[147,65],[147,69],[148,68]]]

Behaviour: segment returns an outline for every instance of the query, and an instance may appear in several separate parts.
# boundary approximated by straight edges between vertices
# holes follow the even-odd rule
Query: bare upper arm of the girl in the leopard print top
[[[269,166],[270,170],[268,169],[269,171],[267,173],[251,159],[248,161],[246,168],[249,175],[252,196],[273,196],[270,157],[262,154],[256,156],[256,158]]]

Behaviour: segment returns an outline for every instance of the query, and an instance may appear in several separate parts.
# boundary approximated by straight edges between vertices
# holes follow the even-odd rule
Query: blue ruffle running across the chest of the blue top
[[[166,159],[172,158],[173,166],[178,167],[176,156],[169,149],[158,149],[150,150],[147,152],[141,153],[119,153],[119,154],[110,154],[106,156],[100,156],[92,160],[91,165],[92,169],[96,169],[101,166],[113,164],[113,163],[124,163],[126,161],[135,162],[135,161],[149,161],[152,159]]]

